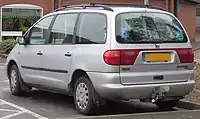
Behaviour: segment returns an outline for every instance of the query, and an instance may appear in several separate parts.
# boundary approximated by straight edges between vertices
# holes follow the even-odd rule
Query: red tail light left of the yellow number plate
[[[133,65],[138,54],[139,50],[108,50],[103,58],[109,65]]]

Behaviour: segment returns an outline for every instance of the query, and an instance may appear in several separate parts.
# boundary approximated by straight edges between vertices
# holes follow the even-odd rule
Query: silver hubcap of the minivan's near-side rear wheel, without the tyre
[[[80,109],[84,110],[89,101],[89,91],[85,83],[80,83],[76,88],[76,103]]]

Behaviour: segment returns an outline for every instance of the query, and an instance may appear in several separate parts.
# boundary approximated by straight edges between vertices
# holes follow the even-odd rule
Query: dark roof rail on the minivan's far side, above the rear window
[[[152,9],[159,9],[163,11],[168,11],[162,7],[154,6],[154,5],[143,5],[143,4],[132,4],[132,3],[90,3],[93,5],[106,5],[106,6],[129,6],[129,7],[140,7],[140,8],[152,8]]]

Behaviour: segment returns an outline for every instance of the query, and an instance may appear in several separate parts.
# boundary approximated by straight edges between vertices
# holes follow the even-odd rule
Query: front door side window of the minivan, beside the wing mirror
[[[39,21],[32,29],[29,44],[41,45],[46,44],[49,38],[49,26],[54,16],[49,16]]]

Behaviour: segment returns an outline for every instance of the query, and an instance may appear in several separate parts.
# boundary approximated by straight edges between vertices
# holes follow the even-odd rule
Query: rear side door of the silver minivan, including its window
[[[78,13],[59,14],[52,25],[49,45],[43,51],[44,85],[51,89],[67,89],[77,16]]]

